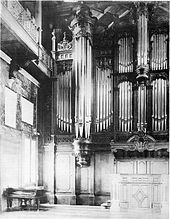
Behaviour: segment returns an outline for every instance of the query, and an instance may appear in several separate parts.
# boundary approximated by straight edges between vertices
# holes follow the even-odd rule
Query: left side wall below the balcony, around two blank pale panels
[[[26,183],[38,183],[38,141],[34,136],[37,126],[38,83],[25,70],[14,71],[9,79],[9,57],[0,59],[0,209],[6,209],[3,191],[7,187],[21,187]],[[5,92],[16,98],[16,124],[10,127],[5,120]],[[22,121],[22,103],[25,98],[33,104],[33,124]],[[12,100],[11,104],[14,104]],[[12,106],[11,106],[12,107]],[[28,166],[30,168],[28,170]],[[28,171],[29,172],[28,172]]]

